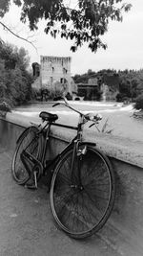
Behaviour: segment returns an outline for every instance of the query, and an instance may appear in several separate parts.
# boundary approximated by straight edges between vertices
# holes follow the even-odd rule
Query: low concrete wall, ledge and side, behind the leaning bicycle
[[[2,149],[10,151],[10,156],[18,135],[29,125],[28,118],[12,113],[0,120],[0,143]],[[51,128],[50,156],[61,151],[74,132]],[[110,244],[118,255],[143,255],[143,145],[88,131],[84,133],[84,140],[95,141],[97,148],[108,154],[116,178],[112,216],[97,236]]]

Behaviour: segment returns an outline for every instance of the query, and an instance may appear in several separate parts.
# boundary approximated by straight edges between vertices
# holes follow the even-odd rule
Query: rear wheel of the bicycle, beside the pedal
[[[31,147],[29,147],[29,151],[33,154],[38,160],[41,159],[42,153],[42,139],[41,137],[35,138],[38,132],[38,128],[30,127],[26,128],[23,133],[20,135],[18,143],[16,145],[16,149],[14,151],[12,157],[11,164],[11,174],[13,179],[19,184],[24,185],[30,179],[30,175],[28,174],[26,168],[24,167],[20,153],[27,148],[27,146],[31,143]],[[34,139],[35,138],[35,139]],[[37,175],[37,179],[39,179],[39,175]]]

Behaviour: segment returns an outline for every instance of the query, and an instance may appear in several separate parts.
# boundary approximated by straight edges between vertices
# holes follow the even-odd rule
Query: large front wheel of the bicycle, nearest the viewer
[[[80,160],[82,190],[75,187],[79,179],[77,157],[71,173],[73,148],[63,155],[51,179],[53,218],[74,239],[92,236],[103,227],[112,213],[115,197],[115,179],[110,160],[101,151],[84,145],[87,152]]]

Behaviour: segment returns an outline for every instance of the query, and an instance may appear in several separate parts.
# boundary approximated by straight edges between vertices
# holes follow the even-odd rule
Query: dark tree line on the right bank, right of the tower
[[[91,78],[98,79],[98,85],[103,83],[104,77],[112,76],[112,86],[116,86],[113,80],[113,76],[117,76],[119,80],[119,93],[116,96],[117,102],[123,102],[127,99],[134,102],[135,98],[143,93],[143,70],[100,70],[98,72],[88,71],[83,75],[76,74],[73,77],[75,83],[87,83]],[[106,83],[106,82],[105,82]]]

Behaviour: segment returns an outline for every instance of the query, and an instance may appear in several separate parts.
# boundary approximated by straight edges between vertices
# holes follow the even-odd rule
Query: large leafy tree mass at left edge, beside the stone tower
[[[10,44],[0,45],[0,102],[20,105],[31,97],[28,53]]]

